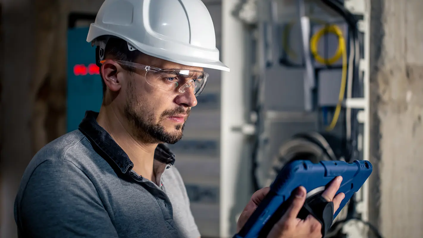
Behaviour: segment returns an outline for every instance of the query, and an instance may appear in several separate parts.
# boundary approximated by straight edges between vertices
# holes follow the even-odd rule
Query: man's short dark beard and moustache
[[[128,121],[132,122],[132,126],[136,131],[135,135],[146,143],[168,143],[175,144],[182,139],[185,122],[175,126],[175,132],[166,131],[161,122],[168,117],[179,114],[190,115],[190,109],[177,107],[176,109],[164,111],[159,120],[156,122],[154,111],[146,116],[146,112],[136,112],[132,105],[136,105],[135,100],[128,100],[124,107],[124,114]],[[140,105],[140,104],[138,104]]]

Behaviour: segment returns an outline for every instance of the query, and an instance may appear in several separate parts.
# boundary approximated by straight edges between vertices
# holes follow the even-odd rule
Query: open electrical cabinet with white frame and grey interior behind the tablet
[[[257,133],[258,147],[256,154],[256,175],[259,184],[265,184],[269,176],[272,161],[278,156],[281,145],[292,135],[304,131],[324,131],[329,123],[326,117],[333,115],[338,103],[341,88],[342,62],[338,60],[330,67],[324,66],[311,58],[310,66],[316,72],[310,82],[307,61],[302,55],[305,48],[300,33],[300,18],[297,3],[301,0],[228,0],[223,5],[222,48],[223,62],[231,68],[231,73],[222,74],[222,82],[231,80],[233,88],[225,90],[222,87],[222,134],[221,134],[221,182],[220,187],[220,235],[230,237],[234,233],[237,215],[242,211],[237,205],[243,203],[236,194],[233,183],[239,184],[236,173],[245,173],[251,177],[252,161],[248,161],[243,153],[233,150],[252,151],[250,139]],[[305,16],[308,16],[308,34],[310,37],[326,23],[335,24],[347,40],[348,26],[344,19],[335,11],[327,8],[320,0],[304,1]],[[357,148],[356,159],[369,160],[369,115],[368,115],[368,52],[369,52],[369,14],[370,5],[364,0],[345,0],[345,8],[353,14],[362,16],[358,21],[358,30],[362,36],[361,59],[359,59],[359,74],[363,88],[361,95],[354,98],[347,96],[343,100],[344,110],[350,114],[357,112]],[[238,5],[239,3],[239,5]],[[241,5],[241,6],[240,6]],[[234,19],[233,12],[238,10],[240,25]],[[304,19],[301,19],[304,20]],[[289,36],[286,28],[289,26]],[[239,35],[235,35],[235,33]],[[286,39],[288,38],[288,39]],[[286,41],[291,41],[287,49]],[[338,48],[338,39],[334,36],[324,36],[319,41],[320,55],[331,57]],[[245,50],[251,47],[254,51]],[[250,49],[251,49],[250,48]],[[244,51],[242,51],[244,49]],[[349,46],[346,46],[347,56]],[[308,52],[309,49],[307,49]],[[288,59],[288,60],[287,60]],[[242,62],[241,62],[242,61]],[[286,62],[290,63],[288,65]],[[248,71],[250,74],[247,74]],[[246,75],[246,77],[245,77]],[[242,87],[247,84],[248,87]],[[251,91],[259,85],[258,96]],[[239,87],[239,88],[236,88]],[[241,89],[242,88],[242,89]],[[243,91],[244,90],[244,91]],[[243,101],[250,102],[244,104]],[[261,111],[252,113],[254,104],[259,104]],[[240,107],[244,105],[244,109]],[[237,115],[238,114],[238,115]],[[240,116],[242,115],[242,116]],[[348,113],[346,115],[349,115]],[[259,120],[257,126],[253,126]],[[339,137],[345,137],[344,113],[331,131]],[[248,154],[251,158],[252,153]],[[248,164],[248,166],[244,166]],[[247,170],[245,170],[247,169]],[[249,180],[248,186],[251,184]],[[247,184],[242,181],[242,184]],[[244,190],[243,190],[244,191]],[[363,221],[368,220],[368,181],[355,194],[356,211]],[[244,203],[245,204],[245,203]],[[235,213],[228,211],[237,211]],[[229,224],[228,224],[229,222]],[[343,226],[343,232],[349,238],[367,237],[368,229],[361,222],[350,221]]]

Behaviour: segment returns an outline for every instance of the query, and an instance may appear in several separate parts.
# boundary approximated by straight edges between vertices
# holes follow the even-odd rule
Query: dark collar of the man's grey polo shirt
[[[123,173],[128,173],[134,167],[125,151],[113,140],[109,133],[97,123],[98,112],[87,111],[82,119],[79,130],[87,137],[93,147],[99,149],[99,155],[103,159],[113,161]],[[154,151],[154,159],[165,163],[175,163],[175,154],[163,145],[157,145]]]

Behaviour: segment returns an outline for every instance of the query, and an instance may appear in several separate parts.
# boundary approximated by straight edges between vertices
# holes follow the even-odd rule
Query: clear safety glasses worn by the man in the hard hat
[[[100,60],[103,64],[106,60]],[[153,87],[168,91],[175,95],[181,95],[192,91],[195,96],[200,95],[206,86],[209,74],[204,71],[189,69],[164,69],[129,61],[114,60],[120,65],[138,68],[146,71],[144,78]]]

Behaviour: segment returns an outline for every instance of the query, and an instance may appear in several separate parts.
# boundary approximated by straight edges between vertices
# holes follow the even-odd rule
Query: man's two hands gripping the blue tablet
[[[341,176],[336,177],[322,194],[322,197],[328,202],[333,202],[334,212],[338,210],[341,201],[345,197],[343,193],[335,196],[341,181]],[[241,216],[239,216],[237,232],[241,230],[269,190],[270,188],[266,187],[253,194],[250,202],[248,202]],[[295,191],[291,205],[282,218],[273,226],[267,238],[321,238],[321,224],[314,216],[309,215],[305,220],[297,218],[299,211],[304,205],[306,194],[307,191],[302,186]]]

